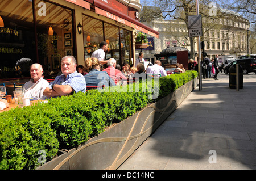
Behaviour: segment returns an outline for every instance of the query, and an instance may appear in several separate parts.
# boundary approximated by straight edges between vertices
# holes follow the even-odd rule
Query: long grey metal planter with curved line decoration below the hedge
[[[195,89],[197,78],[41,169],[117,169]]]

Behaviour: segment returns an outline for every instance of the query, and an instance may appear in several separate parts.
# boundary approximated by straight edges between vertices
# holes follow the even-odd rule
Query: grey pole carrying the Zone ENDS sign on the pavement
[[[199,15],[199,0],[196,0],[196,14],[188,16],[188,36],[197,37],[197,49],[198,49],[198,72],[199,72],[199,90],[202,90],[202,62],[201,62],[201,47],[200,36],[202,36],[202,16]]]

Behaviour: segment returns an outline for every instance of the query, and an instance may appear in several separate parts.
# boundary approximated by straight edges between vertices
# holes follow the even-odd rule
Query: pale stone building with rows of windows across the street
[[[209,19],[203,22],[203,36],[201,41],[205,43],[205,52],[208,57],[218,55],[234,54],[240,56],[247,54],[248,31],[249,25],[247,20],[240,16],[229,19],[218,19],[217,26],[213,28],[204,28],[205,23],[209,23]],[[151,59],[154,54],[160,53],[163,49],[172,46],[172,41],[177,41],[177,46],[191,49],[187,26],[184,22],[176,20],[155,19],[147,26],[158,31],[159,39],[154,39],[154,50],[143,49],[144,57]],[[197,52],[197,39],[195,39],[195,51]]]

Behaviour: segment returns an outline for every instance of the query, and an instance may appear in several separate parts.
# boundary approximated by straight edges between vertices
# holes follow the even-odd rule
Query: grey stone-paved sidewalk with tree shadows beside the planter
[[[256,74],[239,91],[218,79],[203,79],[118,170],[256,169]]]

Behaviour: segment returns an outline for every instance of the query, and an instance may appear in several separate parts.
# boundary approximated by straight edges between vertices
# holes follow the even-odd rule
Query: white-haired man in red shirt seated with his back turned
[[[115,69],[115,66],[117,65],[117,61],[114,58],[110,58],[107,62],[108,68],[102,70],[106,71],[106,73],[109,74],[109,77],[112,78],[112,80],[115,82],[115,84],[120,80],[120,79],[127,79],[123,73]]]

